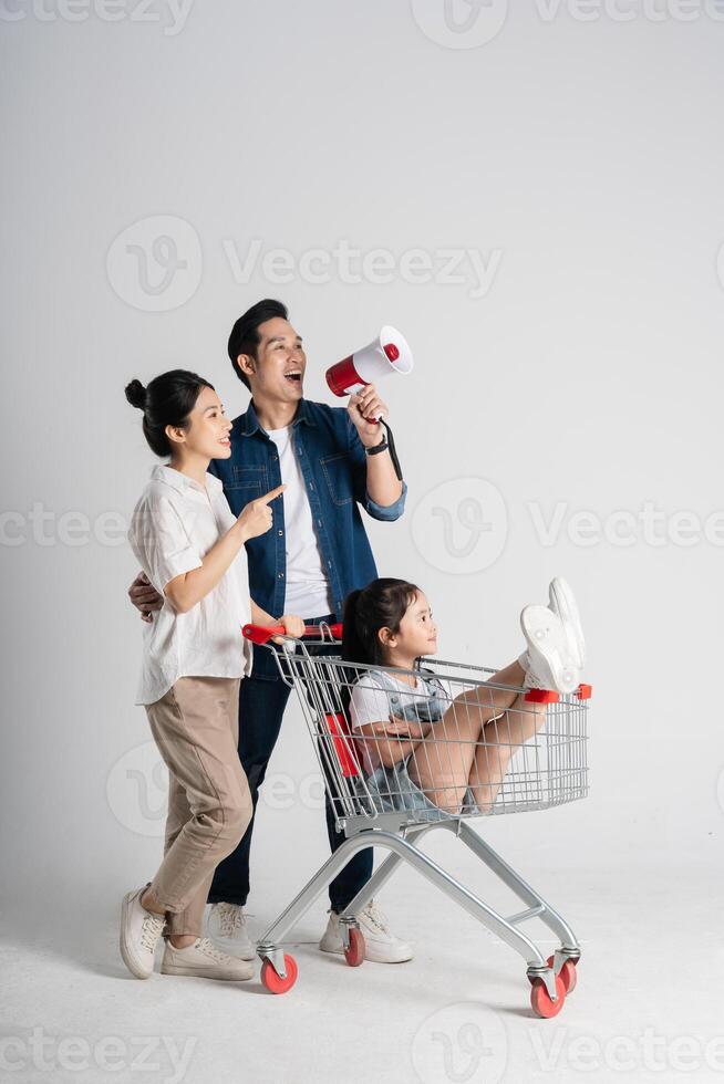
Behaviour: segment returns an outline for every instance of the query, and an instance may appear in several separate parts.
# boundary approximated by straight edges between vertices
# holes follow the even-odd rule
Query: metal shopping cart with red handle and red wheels
[[[578,941],[550,904],[467,822],[473,816],[546,810],[586,796],[586,716],[591,687],[581,685],[569,696],[516,688],[492,682],[495,671],[486,667],[436,658],[417,659],[413,670],[350,664],[339,655],[341,625],[307,626],[306,642],[286,636],[282,626],[247,625],[244,635],[270,650],[276,650],[271,638],[282,637],[281,648],[276,650],[277,665],[282,680],[297,689],[338,831],[347,836],[259,941],[265,987],[272,993],[291,989],[297,962],[283,952],[281,942],[350,858],[372,846],[390,854],[340,916],[344,956],[351,967],[362,963],[365,951],[355,916],[400,864],[407,862],[523,956],[534,1012],[538,1017],[557,1015],[576,986],[581,955]],[[385,696],[392,697],[392,690],[399,694],[397,700],[387,702],[394,717],[399,713],[394,705],[401,705],[400,715],[407,720],[403,734],[417,739],[412,772],[402,764],[377,763],[391,760],[390,742],[400,733],[360,738],[350,726],[350,697],[358,684],[370,682],[382,688]],[[444,716],[434,738],[431,711],[426,711],[433,697],[438,701],[436,715]],[[459,763],[456,758],[461,753],[469,759],[470,733],[478,723],[469,786],[445,782],[455,779],[451,765]],[[387,757],[383,758],[385,747]],[[424,785],[431,764],[434,786]],[[420,844],[435,828],[454,833],[518,896],[525,909],[503,917],[425,855]],[[552,956],[546,958],[520,929],[532,918],[539,918],[560,941]]]

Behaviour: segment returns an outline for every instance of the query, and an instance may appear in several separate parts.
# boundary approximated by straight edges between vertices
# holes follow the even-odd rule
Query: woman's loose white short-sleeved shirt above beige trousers
[[[206,488],[174,470],[154,467],[135,507],[128,541],[156,591],[200,569],[208,551],[236,522],[218,478]],[[241,626],[251,621],[244,546],[220,581],[188,613],[177,614],[164,595],[162,609],[144,624],[143,664],[136,703],[154,703],[180,677],[245,677],[251,645]]]

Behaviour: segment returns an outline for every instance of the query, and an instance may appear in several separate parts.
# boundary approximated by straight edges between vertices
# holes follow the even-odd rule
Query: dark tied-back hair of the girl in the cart
[[[353,591],[344,603],[342,659],[384,666],[384,648],[377,633],[400,632],[400,622],[415,601],[420,587],[406,580],[373,580],[362,591]]]

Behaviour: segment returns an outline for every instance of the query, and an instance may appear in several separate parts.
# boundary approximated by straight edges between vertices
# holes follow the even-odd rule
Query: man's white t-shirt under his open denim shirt
[[[285,613],[321,617],[332,613],[333,602],[314,532],[304,477],[291,441],[291,426],[268,429],[267,432],[279,450],[281,481],[287,487],[282,494],[287,532]]]

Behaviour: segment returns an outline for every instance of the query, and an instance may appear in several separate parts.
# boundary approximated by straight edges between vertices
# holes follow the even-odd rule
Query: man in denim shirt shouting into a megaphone
[[[302,340],[279,301],[260,301],[240,316],[228,352],[251,403],[234,421],[231,457],[215,460],[211,469],[235,515],[275,486],[287,487],[281,511],[275,507],[275,529],[247,543],[251,597],[270,614],[299,614],[308,625],[341,621],[347,595],[377,575],[358,505],[383,521],[399,519],[404,509],[407,488],[397,477],[385,427],[370,420],[386,417],[387,407],[372,384],[351,396],[347,409],[304,399]],[[143,576],[128,594],[152,619],[161,600]],[[256,811],[290,690],[272,653],[254,650],[252,673],[239,698],[239,758]],[[334,851],[344,835],[334,827],[329,795],[327,827]],[[208,897],[210,932],[242,959],[255,956],[244,914],[252,831],[254,819],[237,850],[217,867]],[[339,915],[369,880],[372,861],[371,848],[359,852],[331,883],[322,951],[344,951]],[[410,946],[391,932],[374,904],[358,918],[366,959],[412,959]]]

